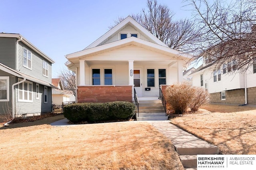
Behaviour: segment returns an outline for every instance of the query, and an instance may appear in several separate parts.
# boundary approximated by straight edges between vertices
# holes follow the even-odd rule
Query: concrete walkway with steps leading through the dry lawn
[[[164,134],[180,155],[180,160],[186,170],[197,167],[197,154],[218,154],[219,148],[194,135],[180,129],[170,121],[148,121],[158,131]]]

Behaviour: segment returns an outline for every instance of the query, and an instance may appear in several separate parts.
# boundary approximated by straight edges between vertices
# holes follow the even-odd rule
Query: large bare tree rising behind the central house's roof
[[[132,14],[131,17],[146,28],[150,33],[164,42],[172,49],[182,52],[191,51],[191,45],[198,41],[200,29],[195,22],[182,19],[174,20],[174,12],[168,6],[158,4],[157,0],[147,0],[147,9],[142,9],[140,14]],[[114,21],[114,24],[124,20],[123,17]],[[111,25],[109,28],[114,27]]]

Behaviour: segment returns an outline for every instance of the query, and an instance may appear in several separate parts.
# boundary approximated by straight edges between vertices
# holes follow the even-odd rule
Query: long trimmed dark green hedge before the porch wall
[[[80,103],[63,108],[64,117],[73,123],[127,119],[132,117],[135,106],[131,102]]]

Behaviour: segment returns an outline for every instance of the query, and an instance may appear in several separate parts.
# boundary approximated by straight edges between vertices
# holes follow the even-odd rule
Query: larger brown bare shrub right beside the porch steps
[[[190,84],[173,84],[166,87],[166,101],[176,114],[186,113],[194,98],[195,89]]]

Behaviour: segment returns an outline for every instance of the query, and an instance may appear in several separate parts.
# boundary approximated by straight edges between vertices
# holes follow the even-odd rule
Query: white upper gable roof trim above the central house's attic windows
[[[102,35],[100,38],[98,38],[96,41],[94,41],[92,44],[90,44],[86,49],[90,49],[93,47],[98,46],[102,42],[106,42],[108,39],[110,39],[113,35],[118,33],[118,31],[121,31],[124,27],[127,25],[131,25],[136,29],[136,31],[140,32],[144,35],[147,39],[150,39],[152,42],[162,45],[164,47],[168,47],[165,43],[160,41],[156,36],[154,36],[152,33],[150,33],[148,30],[146,30],[142,25],[140,25],[137,21],[135,21],[132,17],[128,16],[124,20],[122,20],[120,23],[118,23],[116,26],[114,26],[112,29],[110,29],[108,32],[106,32],[104,35]]]

